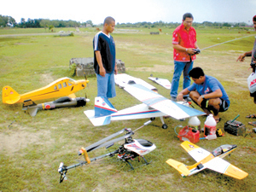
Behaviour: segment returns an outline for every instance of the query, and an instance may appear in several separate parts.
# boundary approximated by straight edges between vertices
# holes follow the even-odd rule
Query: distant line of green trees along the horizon
[[[137,22],[137,23],[117,23],[116,27],[170,27],[175,28],[179,26],[180,23],[177,22]],[[76,20],[49,20],[49,19],[30,19],[25,20],[21,18],[20,22],[16,22],[16,20],[11,16],[0,15],[0,26],[7,27],[20,27],[20,28],[53,28],[53,27],[80,27],[80,26],[95,26],[91,20],[87,20],[86,22],[79,22]],[[194,22],[193,26],[195,27],[223,27],[223,26],[247,26],[245,22],[241,23],[229,23],[229,22],[209,22],[204,21],[202,23]]]

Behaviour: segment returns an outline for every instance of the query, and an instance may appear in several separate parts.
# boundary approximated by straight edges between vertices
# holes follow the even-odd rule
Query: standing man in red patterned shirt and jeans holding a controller
[[[180,76],[183,72],[183,89],[190,85],[189,72],[195,61],[195,54],[200,52],[196,44],[196,32],[192,27],[193,15],[186,13],[183,15],[183,23],[172,33],[172,47],[174,59],[174,73],[171,87],[171,100],[177,101],[177,89]],[[195,50],[198,49],[198,50]],[[184,99],[191,101],[189,96]]]

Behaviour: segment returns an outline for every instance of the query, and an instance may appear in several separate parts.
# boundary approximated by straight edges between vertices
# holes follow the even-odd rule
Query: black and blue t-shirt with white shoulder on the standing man
[[[96,60],[95,51],[99,50],[102,55],[102,64],[106,73],[113,73],[115,66],[115,44],[111,35],[106,35],[104,32],[96,33],[93,38],[94,50],[94,69],[97,74],[100,73],[100,67]]]

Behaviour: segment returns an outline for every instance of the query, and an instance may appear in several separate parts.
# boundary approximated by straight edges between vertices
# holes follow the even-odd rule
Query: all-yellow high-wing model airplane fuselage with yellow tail
[[[32,101],[55,98],[60,96],[75,97],[74,93],[79,90],[84,90],[88,80],[73,80],[70,78],[57,79],[51,84],[42,87],[38,90],[32,90],[31,92],[19,95],[10,86],[4,86],[2,91],[3,103],[15,104],[17,102],[24,102],[27,99]]]

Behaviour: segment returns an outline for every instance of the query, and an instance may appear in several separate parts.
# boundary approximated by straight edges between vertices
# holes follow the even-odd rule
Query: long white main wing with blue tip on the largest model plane
[[[166,97],[155,93],[153,90],[148,90],[141,84],[127,84],[124,89],[149,107],[166,113],[166,115],[170,115],[175,119],[184,119],[205,114],[195,108],[189,108],[177,102],[172,102],[166,99]]]

